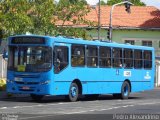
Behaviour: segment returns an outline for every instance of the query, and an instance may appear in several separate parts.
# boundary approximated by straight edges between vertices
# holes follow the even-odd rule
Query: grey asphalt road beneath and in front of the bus
[[[133,93],[128,100],[114,99],[112,95],[98,100],[81,98],[78,102],[67,102],[63,96],[47,96],[38,103],[26,96],[0,99],[0,120],[140,119],[138,115],[152,114],[149,117],[160,119],[160,88]]]

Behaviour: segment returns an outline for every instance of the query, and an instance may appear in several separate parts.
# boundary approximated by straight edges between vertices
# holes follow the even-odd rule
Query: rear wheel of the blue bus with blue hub
[[[121,99],[128,99],[130,94],[130,85],[127,81],[125,81],[121,87]]]

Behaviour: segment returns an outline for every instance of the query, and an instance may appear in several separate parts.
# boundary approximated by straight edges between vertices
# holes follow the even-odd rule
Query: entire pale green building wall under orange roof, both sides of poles
[[[101,38],[103,40],[107,39],[107,31],[108,30],[101,29]],[[96,29],[88,30],[88,35],[94,39],[97,39],[97,33],[98,31]],[[112,40],[117,43],[124,43],[125,40],[135,40],[135,45],[142,45],[142,40],[152,40],[156,56],[160,56],[160,30],[113,30]]]

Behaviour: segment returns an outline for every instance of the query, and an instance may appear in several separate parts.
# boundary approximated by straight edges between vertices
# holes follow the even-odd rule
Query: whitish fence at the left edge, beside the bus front
[[[2,54],[0,54],[0,78],[6,78],[7,73],[7,61],[3,59]]]

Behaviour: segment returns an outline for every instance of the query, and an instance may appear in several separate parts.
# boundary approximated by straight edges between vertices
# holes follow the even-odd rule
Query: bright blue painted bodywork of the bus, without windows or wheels
[[[23,37],[20,36],[20,37]],[[82,94],[108,94],[121,93],[121,86],[125,80],[131,84],[131,92],[150,90],[154,88],[154,49],[143,46],[133,46],[117,43],[105,43],[99,41],[84,41],[81,39],[69,39],[64,37],[44,37],[45,44],[54,50],[55,46],[68,47],[68,65],[61,72],[54,73],[54,65],[46,72],[7,72],[7,92],[39,95],[68,95],[71,83],[79,80],[82,85]],[[39,46],[39,44],[12,44],[9,38],[9,46]],[[72,45],[104,46],[111,48],[149,50],[152,51],[152,69],[125,69],[125,68],[102,68],[102,67],[74,67],[71,65]],[[52,58],[53,61],[53,58]],[[15,80],[20,79],[23,83]],[[48,81],[48,83],[44,83]],[[21,89],[24,87],[24,89]],[[26,87],[26,88],[25,88]],[[29,89],[28,89],[28,88]]]

